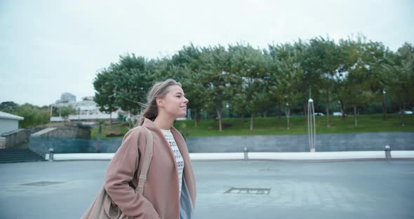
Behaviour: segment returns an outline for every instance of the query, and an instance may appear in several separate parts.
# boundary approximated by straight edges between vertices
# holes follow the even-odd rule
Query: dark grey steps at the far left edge
[[[35,161],[45,161],[45,159],[29,149],[0,149],[0,164]]]

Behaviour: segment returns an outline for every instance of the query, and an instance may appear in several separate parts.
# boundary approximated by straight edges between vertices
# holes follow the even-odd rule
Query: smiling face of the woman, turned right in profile
[[[187,115],[188,100],[184,91],[178,85],[168,87],[168,93],[163,98],[157,98],[158,113],[177,119]]]

